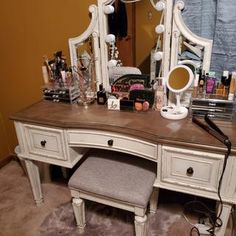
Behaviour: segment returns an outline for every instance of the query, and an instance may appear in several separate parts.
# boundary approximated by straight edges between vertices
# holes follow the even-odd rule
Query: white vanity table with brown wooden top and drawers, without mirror
[[[226,148],[190,118],[170,121],[151,110],[119,112],[97,104],[85,109],[76,104],[41,101],[11,119],[19,140],[19,157],[26,162],[38,205],[43,195],[35,161],[73,167],[90,147],[153,161],[157,165],[157,188],[219,200],[217,187]],[[236,203],[236,122],[218,124],[232,142],[221,188],[224,224],[216,231],[217,236],[223,236],[231,207]]]

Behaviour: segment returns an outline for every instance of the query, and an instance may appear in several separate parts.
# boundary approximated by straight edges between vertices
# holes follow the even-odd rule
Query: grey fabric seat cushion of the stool
[[[146,207],[156,178],[156,164],[143,158],[94,150],[69,180],[69,188]]]

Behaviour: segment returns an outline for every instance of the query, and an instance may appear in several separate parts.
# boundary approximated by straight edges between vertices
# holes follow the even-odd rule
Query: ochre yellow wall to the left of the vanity
[[[96,0],[3,0],[0,14],[0,161],[13,154],[14,112],[40,100],[43,56],[62,50],[69,63],[68,38],[89,23]]]

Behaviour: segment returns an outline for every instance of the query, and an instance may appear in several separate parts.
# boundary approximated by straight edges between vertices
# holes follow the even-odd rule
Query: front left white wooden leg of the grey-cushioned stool
[[[81,198],[73,198],[72,206],[74,210],[77,227],[84,229],[85,227],[85,204]]]

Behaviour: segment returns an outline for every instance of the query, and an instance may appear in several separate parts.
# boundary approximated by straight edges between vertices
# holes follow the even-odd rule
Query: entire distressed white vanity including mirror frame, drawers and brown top
[[[77,47],[88,37],[92,38],[97,84],[103,83],[106,89],[110,85],[105,12],[113,2],[98,0],[98,5],[90,6],[92,17],[88,29],[69,40],[71,63],[76,65]],[[204,48],[202,67],[208,71],[212,42],[195,36],[185,27],[180,15],[182,1],[177,1],[175,6],[172,0],[161,2],[165,5],[162,9],[165,22],[162,77],[178,64],[180,34]],[[151,3],[156,7],[159,1]],[[97,104],[85,108],[77,104],[40,101],[12,115],[11,119],[20,146],[18,155],[26,163],[37,205],[43,202],[37,161],[72,168],[88,148],[130,153],[151,160],[157,167],[154,187],[158,189],[220,200],[218,186],[226,147],[192,123],[190,117],[173,121],[162,118],[154,110],[119,112]],[[217,236],[223,236],[231,208],[236,203],[236,121],[216,123],[232,142],[220,189],[223,226],[216,230]]]

